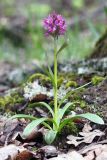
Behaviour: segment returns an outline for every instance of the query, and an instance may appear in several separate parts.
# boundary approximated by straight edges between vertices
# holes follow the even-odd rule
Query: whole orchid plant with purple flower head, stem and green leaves
[[[72,103],[68,102],[63,107],[62,104],[64,103],[65,99],[67,99],[72,92],[74,92],[77,89],[80,89],[84,86],[81,86],[73,91],[68,92],[59,102],[58,102],[58,87],[57,87],[57,60],[59,53],[67,46],[67,42],[64,42],[63,45],[58,49],[57,47],[57,41],[59,36],[64,35],[67,30],[67,24],[65,22],[65,19],[62,17],[62,15],[52,13],[50,14],[46,19],[43,21],[44,28],[46,30],[46,36],[51,36],[54,41],[54,73],[51,70],[50,67],[48,67],[48,76],[50,77],[52,84],[53,84],[53,90],[54,90],[54,109],[52,109],[49,104],[45,102],[39,102],[35,105],[40,105],[43,107],[46,107],[51,117],[42,117],[42,118],[36,118],[31,115],[24,115],[24,114],[18,114],[14,115],[11,118],[27,118],[30,119],[31,122],[26,126],[23,132],[23,137],[26,138],[29,136],[35,128],[42,124],[44,125],[48,130],[46,134],[44,135],[44,139],[47,144],[51,144],[55,138],[58,132],[61,131],[61,129],[69,122],[74,121],[75,119],[79,118],[86,118],[94,123],[98,124],[104,124],[104,121],[102,118],[95,114],[91,113],[85,113],[85,114],[71,114],[69,116],[64,117],[66,111],[71,107]]]

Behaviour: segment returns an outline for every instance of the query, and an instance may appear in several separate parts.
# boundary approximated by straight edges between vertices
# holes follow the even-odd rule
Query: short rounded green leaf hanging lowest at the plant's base
[[[49,130],[44,136],[44,139],[45,139],[46,143],[51,144],[55,140],[56,134],[57,134],[56,131]]]

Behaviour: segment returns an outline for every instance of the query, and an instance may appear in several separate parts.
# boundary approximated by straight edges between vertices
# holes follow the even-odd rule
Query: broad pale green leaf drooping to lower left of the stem
[[[26,126],[26,128],[24,129],[24,131],[23,131],[23,137],[24,137],[24,138],[28,137],[28,136],[31,134],[31,132],[32,132],[33,130],[35,130],[35,128],[36,128],[39,124],[43,123],[43,122],[46,121],[46,120],[48,120],[48,118],[39,118],[39,119],[36,119],[36,120],[32,121],[31,123],[29,123],[29,124]]]

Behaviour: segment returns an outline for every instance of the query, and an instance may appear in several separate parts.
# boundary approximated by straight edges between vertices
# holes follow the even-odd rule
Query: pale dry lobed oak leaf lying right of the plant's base
[[[95,137],[100,137],[104,135],[104,132],[101,132],[100,130],[94,130],[92,132],[80,132],[79,135],[81,137],[75,137],[73,135],[67,136],[67,143],[73,144],[75,147],[77,147],[81,143],[92,143]]]

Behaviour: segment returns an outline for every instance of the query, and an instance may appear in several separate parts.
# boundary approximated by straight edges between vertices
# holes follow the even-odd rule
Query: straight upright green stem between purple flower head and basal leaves
[[[54,38],[54,119],[57,123],[58,106],[57,106],[57,38]]]

